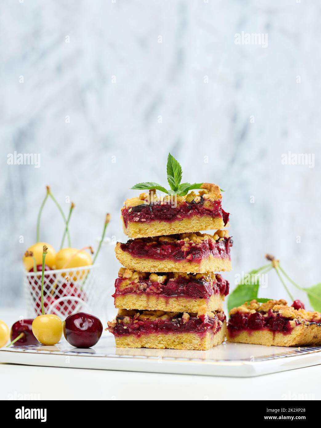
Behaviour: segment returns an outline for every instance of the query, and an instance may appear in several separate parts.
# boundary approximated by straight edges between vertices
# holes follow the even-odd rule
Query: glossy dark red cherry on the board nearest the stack
[[[100,319],[85,312],[69,315],[63,323],[65,339],[76,348],[91,348],[96,345],[102,331]]]

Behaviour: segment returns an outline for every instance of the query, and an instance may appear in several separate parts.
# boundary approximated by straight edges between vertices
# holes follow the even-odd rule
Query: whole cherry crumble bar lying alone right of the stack
[[[230,311],[227,337],[268,346],[321,345],[321,314],[294,309],[285,300],[252,300]]]

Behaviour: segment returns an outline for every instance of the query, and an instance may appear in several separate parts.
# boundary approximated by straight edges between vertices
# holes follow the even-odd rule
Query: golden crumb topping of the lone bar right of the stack
[[[296,319],[299,322],[320,322],[320,312],[310,312],[305,309],[294,309],[293,306],[288,306],[286,300],[268,300],[265,303],[258,303],[256,300],[251,300],[250,303],[245,302],[243,305],[233,308],[230,311],[230,315],[234,315],[237,312],[278,312],[284,318]]]

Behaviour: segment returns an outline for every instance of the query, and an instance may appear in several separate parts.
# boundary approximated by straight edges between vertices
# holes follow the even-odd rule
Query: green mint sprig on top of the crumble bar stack
[[[185,196],[190,190],[201,189],[203,183],[181,183],[182,169],[178,160],[174,158],[170,153],[167,158],[167,181],[170,189],[167,190],[165,187],[152,181],[144,181],[143,183],[137,183],[131,189],[133,190],[160,190],[160,192],[167,193],[168,195]]]

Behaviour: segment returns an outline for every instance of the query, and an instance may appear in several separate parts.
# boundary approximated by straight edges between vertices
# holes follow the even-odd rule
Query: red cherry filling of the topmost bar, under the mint
[[[164,204],[141,204],[131,208],[122,208],[122,217],[125,227],[128,222],[149,222],[149,221],[175,221],[189,218],[194,215],[222,217],[224,225],[229,222],[229,213],[222,209],[221,200],[207,201],[204,206],[203,196],[200,197],[200,202],[184,202],[175,206],[170,203]]]

